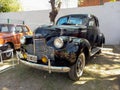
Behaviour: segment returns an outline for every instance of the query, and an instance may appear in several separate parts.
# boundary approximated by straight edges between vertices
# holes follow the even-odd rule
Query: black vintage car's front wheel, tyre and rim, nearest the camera
[[[85,54],[81,53],[78,56],[76,63],[71,66],[71,70],[69,72],[69,77],[72,80],[79,80],[79,78],[83,74],[84,67],[85,67]]]

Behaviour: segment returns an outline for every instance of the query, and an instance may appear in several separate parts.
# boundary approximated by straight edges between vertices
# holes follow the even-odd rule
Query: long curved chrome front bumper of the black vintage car
[[[24,61],[21,59],[20,59],[20,62],[22,62],[23,64],[28,65],[30,67],[33,67],[33,68],[49,71],[49,73],[51,73],[51,72],[69,72],[70,71],[69,67],[57,67],[57,66],[49,66],[49,65],[47,66],[47,65],[36,64],[36,63]]]

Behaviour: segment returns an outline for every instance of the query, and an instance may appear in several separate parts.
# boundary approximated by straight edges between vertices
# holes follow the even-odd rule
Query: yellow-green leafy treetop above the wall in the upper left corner
[[[16,12],[20,9],[18,0],[0,0],[0,12]]]

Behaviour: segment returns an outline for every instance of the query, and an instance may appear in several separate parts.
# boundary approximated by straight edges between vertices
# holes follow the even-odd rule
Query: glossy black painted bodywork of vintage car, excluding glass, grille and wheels
[[[77,16],[79,15],[81,14],[77,14]],[[72,15],[68,15],[68,17],[70,16]],[[88,19],[85,25],[57,25],[60,20],[58,19],[54,26],[46,25],[38,27],[33,37],[26,36],[28,40],[26,40],[26,44],[22,45],[22,49],[25,49],[25,46],[28,44],[33,44],[33,39],[45,38],[47,46],[54,48],[55,62],[53,65],[71,66],[76,62],[81,52],[84,52],[85,56],[89,57],[91,49],[101,45],[105,40],[103,34],[98,30],[98,19],[93,15],[88,17],[85,14],[85,17]],[[93,18],[97,22],[96,26],[89,26],[89,21]],[[61,37],[64,41],[64,46],[59,49],[53,44],[54,39],[57,37]]]

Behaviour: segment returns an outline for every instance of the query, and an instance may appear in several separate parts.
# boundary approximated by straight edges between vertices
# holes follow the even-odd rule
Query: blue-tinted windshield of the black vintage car
[[[65,16],[57,21],[57,25],[86,25],[87,17],[83,15]]]

